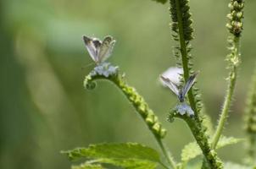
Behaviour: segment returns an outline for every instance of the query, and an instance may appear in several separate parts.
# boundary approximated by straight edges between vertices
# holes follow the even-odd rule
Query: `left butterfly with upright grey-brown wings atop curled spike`
[[[83,35],[83,41],[90,57],[96,64],[103,63],[110,57],[115,44],[114,38],[110,35],[104,37],[103,41]]]

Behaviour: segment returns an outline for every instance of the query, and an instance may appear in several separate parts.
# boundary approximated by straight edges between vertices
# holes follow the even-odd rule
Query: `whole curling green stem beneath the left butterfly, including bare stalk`
[[[90,74],[88,76],[90,76]],[[159,148],[162,150],[164,158],[166,159],[166,161],[168,161],[171,168],[175,169],[176,168],[175,161],[172,155],[170,155],[170,152],[165,148],[162,141],[165,136],[166,130],[162,128],[161,124],[158,121],[158,117],[156,117],[153,111],[147,106],[147,103],[146,101],[144,101],[142,96],[136,93],[136,90],[133,87],[127,85],[124,79],[122,79],[119,75],[113,75],[113,76],[110,76],[109,78],[106,78],[102,75],[96,75],[93,77],[92,76],[88,77],[88,76],[85,79],[85,82],[84,82],[85,84],[92,83],[92,81],[95,79],[107,79],[113,82],[114,85],[116,85],[125,94],[126,98],[129,101],[131,101],[132,105],[136,109],[136,112],[139,113],[143,121],[147,124],[147,127],[149,128],[154,138],[156,139],[157,143],[159,144]],[[88,79],[91,82],[89,82]]]

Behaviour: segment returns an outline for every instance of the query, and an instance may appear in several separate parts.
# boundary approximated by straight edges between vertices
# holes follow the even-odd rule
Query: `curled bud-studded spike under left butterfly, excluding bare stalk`
[[[136,112],[141,115],[144,122],[147,123],[147,127],[153,134],[157,138],[164,138],[166,129],[159,123],[159,118],[154,114],[153,110],[149,108],[144,98],[136,92],[136,89],[125,83],[125,79],[121,77],[120,73],[111,75],[108,78],[99,74],[88,74],[84,80],[86,89],[92,90],[96,86],[93,81],[95,79],[108,79],[117,85],[118,88],[123,91],[127,99],[131,101],[131,104],[136,108]]]

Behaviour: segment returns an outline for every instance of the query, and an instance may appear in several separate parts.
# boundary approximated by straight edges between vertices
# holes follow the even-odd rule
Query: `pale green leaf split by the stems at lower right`
[[[226,145],[230,144],[237,144],[241,142],[243,139],[236,139],[233,137],[221,137],[220,141],[217,144],[217,149],[220,149]],[[202,154],[202,150],[199,148],[198,144],[196,142],[192,142],[189,144],[186,144],[181,152],[181,161],[183,164],[186,164],[187,161],[192,160],[193,158],[197,157],[198,155]]]

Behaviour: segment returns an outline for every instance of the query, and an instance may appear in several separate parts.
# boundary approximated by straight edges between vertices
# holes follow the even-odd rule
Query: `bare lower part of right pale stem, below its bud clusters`
[[[234,46],[233,46],[232,51],[233,51],[233,54],[235,55],[234,58],[237,60],[236,62],[239,62],[238,59],[239,59],[239,55],[240,55],[239,40],[240,40],[239,37],[234,36],[234,39],[233,39]],[[213,149],[215,149],[216,145],[218,144],[218,141],[220,139],[222,131],[225,127],[225,122],[228,117],[228,112],[231,107],[231,101],[232,101],[232,97],[234,95],[234,90],[235,90],[235,86],[236,86],[236,82],[237,82],[237,66],[238,66],[238,63],[234,63],[231,66],[231,73],[229,75],[229,85],[228,85],[228,90],[227,90],[227,93],[225,96],[224,106],[223,106],[222,112],[220,113],[220,120],[219,120],[217,129],[214,134],[214,139],[212,141]]]

